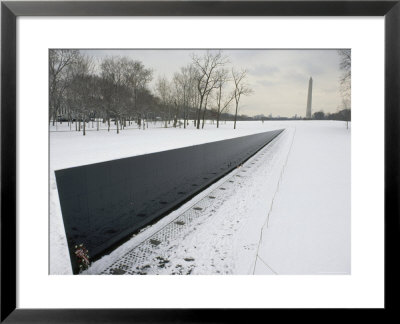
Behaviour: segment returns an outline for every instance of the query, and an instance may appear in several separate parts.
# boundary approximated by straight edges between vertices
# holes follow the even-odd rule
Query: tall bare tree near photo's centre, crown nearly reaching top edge
[[[197,109],[197,129],[200,128],[200,117],[201,111],[204,107],[203,112],[203,127],[204,127],[204,116],[207,109],[206,102],[210,92],[216,88],[217,78],[216,71],[221,66],[228,62],[228,59],[222,55],[221,51],[216,53],[207,51],[202,57],[195,54],[192,55],[193,65],[197,69],[197,91],[199,94],[199,104]]]

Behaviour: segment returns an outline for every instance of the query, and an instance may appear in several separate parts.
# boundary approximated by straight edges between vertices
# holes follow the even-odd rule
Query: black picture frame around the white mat
[[[262,309],[16,308],[16,19],[18,16],[384,16],[385,17],[385,308],[399,294],[400,1],[4,1],[1,3],[1,322],[198,323],[267,320]],[[373,125],[371,125],[373,128]],[[372,261],[371,261],[372,262]],[[366,288],[367,290],[367,288]],[[240,294],[240,292],[238,292]],[[309,312],[297,310],[300,316]],[[330,312],[332,313],[332,312]],[[304,314],[304,315],[303,315]],[[359,312],[358,312],[359,314]],[[251,320],[254,319],[254,320]],[[259,320],[257,320],[259,321]]]

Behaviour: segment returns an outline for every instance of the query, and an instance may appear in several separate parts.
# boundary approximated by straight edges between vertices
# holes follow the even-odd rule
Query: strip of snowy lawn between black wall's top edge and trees
[[[237,129],[233,129],[233,122],[222,123],[220,128],[208,122],[204,127],[195,129],[193,123],[188,129],[133,127],[119,134],[100,130],[85,136],[76,131],[50,132],[50,167],[65,169],[279,129],[275,123],[261,121],[238,122]]]

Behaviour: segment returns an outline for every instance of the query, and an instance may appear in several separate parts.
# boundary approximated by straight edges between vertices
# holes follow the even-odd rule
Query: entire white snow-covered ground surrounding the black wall
[[[71,273],[54,170],[279,128],[286,131],[254,157],[258,161],[248,161],[245,177],[237,178],[235,170],[103,257],[88,273],[101,273],[218,186],[230,183],[230,177],[236,177],[232,186],[216,197],[211,209],[204,209],[204,217],[159,250],[168,263],[149,273],[176,273],[178,265],[178,273],[192,274],[350,273],[350,130],[343,122],[330,121],[239,122],[236,130],[231,123],[220,129],[208,124],[204,130],[132,129],[118,135],[93,131],[85,137],[52,132],[50,273]]]

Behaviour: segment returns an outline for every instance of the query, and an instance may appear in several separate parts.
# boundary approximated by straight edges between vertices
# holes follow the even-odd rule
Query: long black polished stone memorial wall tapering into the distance
[[[55,171],[74,272],[243,163],[282,130]]]

